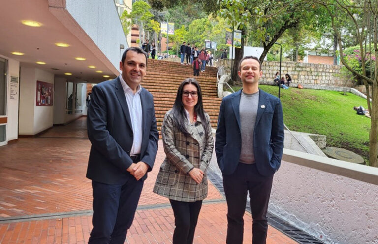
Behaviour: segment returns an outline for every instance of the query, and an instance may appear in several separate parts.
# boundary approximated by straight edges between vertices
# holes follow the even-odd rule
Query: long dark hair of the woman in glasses
[[[181,82],[179,89],[177,89],[176,100],[172,108],[173,119],[175,120],[177,128],[186,136],[188,136],[189,133],[185,129],[187,115],[185,113],[185,108],[183,104],[183,89],[184,86],[187,84],[193,84],[195,87],[197,87],[198,100],[197,104],[194,106],[194,112],[197,114],[197,117],[201,118],[206,133],[205,135],[207,135],[207,120],[205,117],[205,112],[203,111],[201,87],[199,86],[198,81],[194,78],[185,79],[183,82]]]

